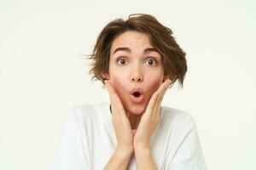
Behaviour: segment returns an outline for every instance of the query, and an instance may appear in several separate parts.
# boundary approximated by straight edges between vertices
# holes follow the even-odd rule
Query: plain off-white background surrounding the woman
[[[73,105],[108,101],[88,71],[109,21],[153,14],[187,53],[163,105],[195,118],[208,169],[256,169],[253,1],[0,1],[0,169],[45,170]],[[177,83],[176,83],[177,84]]]

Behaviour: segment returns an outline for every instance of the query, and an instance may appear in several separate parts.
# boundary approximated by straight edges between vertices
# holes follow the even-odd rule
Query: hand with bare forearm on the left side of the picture
[[[104,169],[126,169],[133,153],[131,124],[112,82],[105,81],[105,83],[111,100],[110,111],[112,113],[112,122],[117,139],[117,149]]]

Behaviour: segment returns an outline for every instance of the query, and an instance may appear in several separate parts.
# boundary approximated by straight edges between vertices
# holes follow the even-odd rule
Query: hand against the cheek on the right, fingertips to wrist
[[[160,120],[160,104],[170,83],[170,79],[166,79],[149,100],[147,109],[143,113],[140,124],[134,134],[133,146],[135,149],[138,147],[143,149],[150,148],[151,136]]]

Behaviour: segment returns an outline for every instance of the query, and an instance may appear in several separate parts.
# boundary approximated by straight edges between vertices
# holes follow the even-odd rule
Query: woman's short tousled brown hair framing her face
[[[135,15],[135,16],[133,16]],[[131,17],[133,16],[133,17]],[[150,14],[130,14],[128,20],[116,19],[108,23],[97,37],[96,45],[92,50],[89,59],[93,59],[90,74],[101,80],[104,84],[104,74],[108,73],[110,48],[113,40],[125,31],[140,31],[146,33],[149,42],[161,55],[161,62],[164,68],[164,77],[172,80],[171,85],[177,80],[183,88],[183,79],[187,71],[185,52],[179,47],[175,38],[172,37],[172,30],[160,24]]]

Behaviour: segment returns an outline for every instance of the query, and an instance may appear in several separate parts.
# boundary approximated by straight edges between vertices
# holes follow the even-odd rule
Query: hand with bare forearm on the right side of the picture
[[[163,82],[149,100],[146,111],[143,113],[140,124],[135,133],[133,146],[138,170],[156,170],[157,165],[154,162],[152,152],[150,150],[150,141],[155,128],[160,121],[160,103],[166,93],[166,89],[170,84],[167,79]]]

